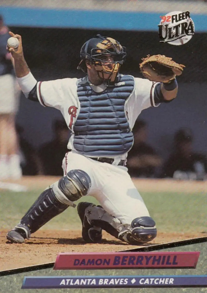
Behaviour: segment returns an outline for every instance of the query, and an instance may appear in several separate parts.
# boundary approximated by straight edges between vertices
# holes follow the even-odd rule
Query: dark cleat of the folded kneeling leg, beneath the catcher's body
[[[82,222],[82,237],[87,243],[99,243],[102,239],[102,229],[88,222],[85,209],[93,206],[90,202],[80,202],[77,206],[78,215]]]

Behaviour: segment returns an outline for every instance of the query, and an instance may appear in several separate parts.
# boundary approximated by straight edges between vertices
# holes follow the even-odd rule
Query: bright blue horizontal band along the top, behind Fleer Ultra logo
[[[170,12],[170,11],[169,11]],[[196,32],[207,31],[207,15],[190,11]],[[163,13],[1,6],[8,26],[158,31]]]

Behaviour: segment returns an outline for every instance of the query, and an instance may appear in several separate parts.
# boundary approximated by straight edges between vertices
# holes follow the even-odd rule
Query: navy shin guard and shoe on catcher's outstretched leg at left
[[[91,186],[88,174],[82,170],[71,170],[66,176],[44,190],[15,228],[8,232],[7,239],[23,243],[30,234],[40,229],[49,220],[62,213],[73,201],[86,195]]]

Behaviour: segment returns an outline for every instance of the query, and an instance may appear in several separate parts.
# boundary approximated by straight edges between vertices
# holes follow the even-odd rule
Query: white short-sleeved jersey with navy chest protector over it
[[[53,81],[38,82],[38,100],[43,106],[54,107],[61,111],[66,121],[66,124],[72,131],[72,135],[68,143],[68,149],[91,157],[105,156],[113,158],[116,157],[117,159],[125,159],[128,151],[133,145],[133,134],[131,133],[131,130],[138,115],[141,113],[142,110],[150,106],[157,107],[159,105],[159,103],[156,104],[154,101],[155,86],[158,83],[153,83],[147,79],[135,78],[133,76],[120,74],[119,78],[117,79],[118,82],[116,82],[113,87],[107,88],[104,85],[94,86],[90,84],[87,77],[85,77],[84,79],[66,78]],[[130,81],[130,86],[128,81]],[[80,84],[82,83],[84,85],[80,89]],[[85,92],[84,94],[82,93],[83,91],[88,93],[88,100],[81,100],[81,95],[85,95]],[[91,96],[93,97],[91,98]],[[104,105],[101,102],[104,97],[105,100],[110,100],[110,111],[115,113],[113,117],[107,116],[108,118],[105,118],[104,116],[105,109],[108,109],[106,107],[104,108]],[[121,110],[121,104],[119,103],[118,105],[118,98],[123,97],[125,97],[125,100],[123,103],[123,110]],[[96,99],[95,105],[94,99]],[[93,112],[94,109],[97,109],[97,106],[98,108],[103,107],[103,111],[100,111],[100,113],[97,113],[95,115],[99,115],[98,117],[100,117],[100,120],[103,120],[105,118],[105,125],[111,125],[110,128],[107,128],[106,130],[107,136],[102,136],[102,139],[97,140],[99,138],[99,131],[103,132],[102,128],[100,129],[100,125],[98,125],[98,123],[97,125],[93,126],[86,125],[86,127],[83,124],[83,127],[85,127],[85,129],[88,131],[90,130],[90,128],[93,127],[93,131],[84,133],[85,136],[79,135],[79,128],[77,127],[77,125],[80,125],[81,119],[84,118],[84,111],[82,110],[84,103],[89,106],[87,108],[87,111],[89,112]],[[119,107],[119,110],[117,107]],[[102,113],[102,116],[100,116],[101,112],[104,112]],[[123,112],[124,115],[121,112]],[[92,114],[91,117],[93,117]],[[121,114],[122,116],[120,116]],[[85,115],[87,117],[88,113],[86,113]],[[125,121],[123,121],[123,119],[125,119]],[[122,123],[119,122],[119,120]],[[119,126],[113,129],[112,125],[117,124],[116,121]],[[128,130],[122,131],[122,125],[128,125]],[[116,132],[113,131],[115,130],[119,131],[119,139],[117,138],[117,140],[119,141],[117,143],[117,146],[114,147],[113,144],[115,144],[115,141],[112,141],[111,139],[114,138],[114,133]],[[123,132],[128,133],[125,133],[123,136]],[[120,137],[121,134],[122,137]],[[79,140],[76,138],[78,138]],[[94,139],[96,139],[96,141]],[[107,139],[109,143],[107,143]],[[81,146],[80,141],[83,142],[83,146]],[[125,148],[123,147],[123,145],[125,146]]]

